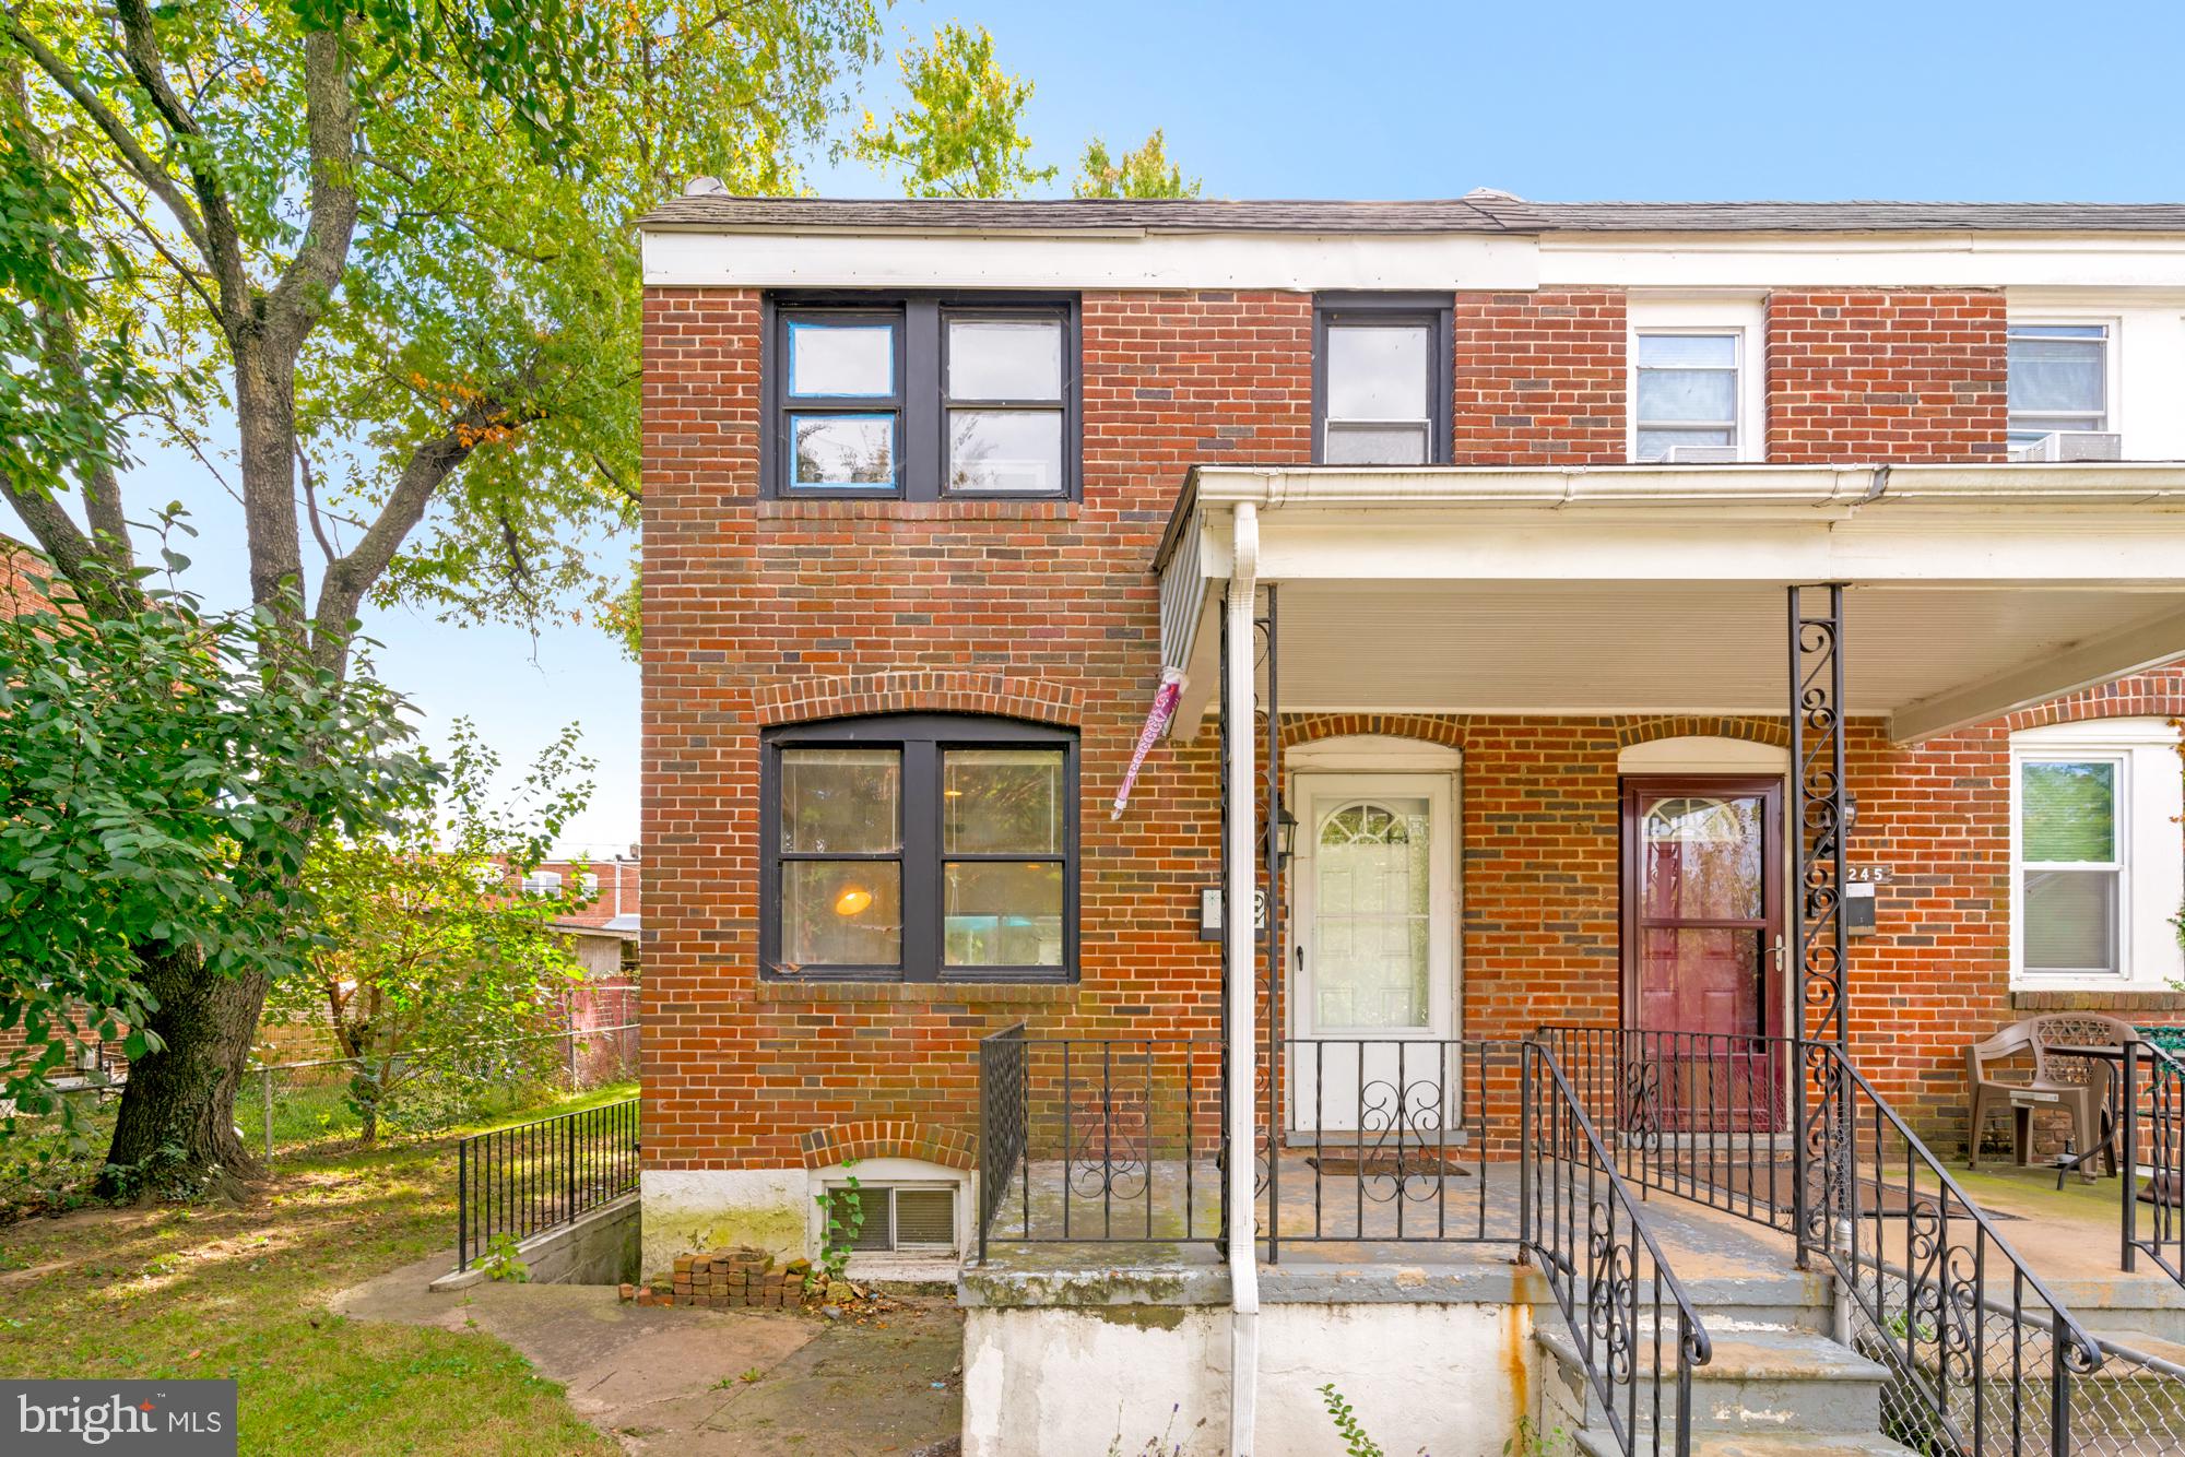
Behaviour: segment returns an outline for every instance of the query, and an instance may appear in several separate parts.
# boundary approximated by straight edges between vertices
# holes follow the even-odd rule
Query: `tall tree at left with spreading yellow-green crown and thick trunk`
[[[339,679],[367,599],[610,594],[586,544],[638,507],[631,221],[697,173],[793,190],[876,46],[870,0],[13,0],[0,496],[135,623],[125,422],[223,467],[273,682]],[[151,957],[175,1055],[111,1156],[232,1164],[267,968]]]

